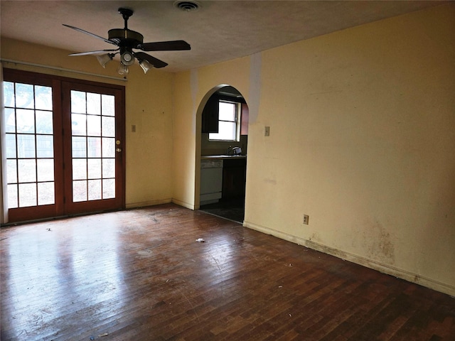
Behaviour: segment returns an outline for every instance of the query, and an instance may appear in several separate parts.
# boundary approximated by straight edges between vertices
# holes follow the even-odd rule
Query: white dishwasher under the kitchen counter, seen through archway
[[[200,205],[221,199],[223,190],[223,160],[200,161]]]

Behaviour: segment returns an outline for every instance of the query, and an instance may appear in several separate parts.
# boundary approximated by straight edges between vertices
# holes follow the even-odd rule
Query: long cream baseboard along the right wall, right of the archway
[[[264,226],[261,226],[258,224],[253,224],[252,222],[245,221],[245,222],[243,222],[243,226],[248,227],[249,229],[254,229],[259,232],[263,232],[265,234],[272,234],[272,236],[287,240],[288,242],[293,242],[295,244],[303,245],[304,247],[308,247],[309,249],[321,251],[324,254],[330,254],[331,256],[336,256],[337,258],[340,258],[340,259],[343,259],[346,261],[351,261],[355,264],[359,264],[362,266],[366,266],[367,268],[380,271],[387,275],[395,276],[397,278],[402,278],[405,281],[416,283],[421,286],[425,286],[427,288],[431,288],[433,290],[440,291],[441,293],[446,293],[447,295],[450,295],[450,296],[455,296],[455,286],[451,286],[446,283],[441,283],[439,281],[435,281],[432,278],[420,276],[420,275],[414,274],[410,271],[398,269],[395,266],[383,264],[380,261],[375,261],[373,259],[367,259],[363,256],[358,256],[356,254],[351,254],[346,251],[334,249],[332,247],[327,247],[326,245],[319,244],[319,243],[313,242],[308,239],[296,237],[296,236],[293,236],[291,234],[287,234],[284,232],[279,232],[275,229],[270,229],[269,227],[264,227]]]

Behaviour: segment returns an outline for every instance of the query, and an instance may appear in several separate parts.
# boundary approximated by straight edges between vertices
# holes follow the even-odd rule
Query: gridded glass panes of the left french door
[[[53,203],[52,88],[4,82],[4,103],[8,207]]]

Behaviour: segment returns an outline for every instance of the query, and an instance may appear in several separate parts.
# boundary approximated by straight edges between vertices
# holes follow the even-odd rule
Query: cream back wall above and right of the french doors
[[[69,57],[69,51],[1,38],[1,58],[63,67],[96,75],[121,77],[117,61],[103,69],[93,56]],[[126,97],[126,205],[137,207],[171,202],[172,197],[172,86],[173,74],[151,70],[146,75],[139,65],[130,67],[128,81],[51,70],[14,63],[4,67],[63,77],[105,82],[125,87]],[[132,132],[136,125],[136,132]]]

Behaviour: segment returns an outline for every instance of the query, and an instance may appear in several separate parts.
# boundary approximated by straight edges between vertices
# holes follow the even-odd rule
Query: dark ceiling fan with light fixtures
[[[117,69],[120,75],[127,75],[129,72],[128,67],[134,64],[134,58],[139,61],[139,65],[147,73],[151,67],[165,67],[168,65],[162,60],[152,57],[144,52],[134,52],[135,50],[142,51],[177,51],[177,50],[191,50],[191,46],[184,40],[171,40],[171,41],[158,41],[155,43],[144,43],[144,36],[141,33],[129,30],[128,19],[133,15],[132,9],[119,8],[119,13],[124,19],[124,28],[112,28],[107,32],[109,38],[102,38],[96,34],[82,30],[70,25],[63,26],[73,28],[75,31],[85,33],[94,38],[105,41],[112,45],[117,45],[117,49],[114,50],[96,50],[81,53],[71,53],[70,55],[96,55],[97,60],[100,62],[102,67],[106,67],[106,64],[114,58],[114,55],[120,54],[120,65]]]

